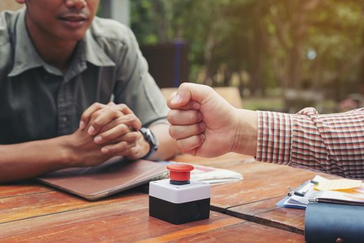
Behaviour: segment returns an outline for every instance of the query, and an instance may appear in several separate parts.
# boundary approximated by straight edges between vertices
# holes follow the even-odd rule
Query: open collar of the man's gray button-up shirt
[[[26,70],[35,67],[44,67],[48,72],[54,73],[55,68],[46,64],[35,50],[26,29],[25,14],[26,9],[24,8],[21,10],[16,24],[15,43],[13,43],[15,46],[14,66],[8,76],[17,76]],[[71,60],[71,65],[69,67],[71,72],[76,71],[75,68],[72,67],[72,65],[77,63],[75,60],[83,62],[78,62],[78,65],[83,67],[83,69],[87,66],[85,62],[90,62],[98,67],[115,66],[115,63],[107,56],[105,51],[101,49],[96,40],[94,40],[90,29],[87,30],[85,37],[83,40],[80,40],[76,48],[76,53],[73,56],[73,60]],[[68,71],[70,70],[67,70],[67,72]],[[58,72],[58,74],[60,73]]]

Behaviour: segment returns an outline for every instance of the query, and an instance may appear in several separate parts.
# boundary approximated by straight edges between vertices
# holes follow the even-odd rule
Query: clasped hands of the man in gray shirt
[[[114,156],[135,160],[150,147],[138,131],[141,121],[125,104],[94,103],[83,112],[76,135],[82,166],[97,165]]]

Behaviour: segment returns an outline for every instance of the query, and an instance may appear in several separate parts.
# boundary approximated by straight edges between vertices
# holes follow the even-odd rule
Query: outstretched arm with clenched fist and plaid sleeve
[[[205,85],[184,83],[168,99],[170,133],[185,153],[234,151],[263,162],[364,178],[364,108],[319,115],[236,109]]]

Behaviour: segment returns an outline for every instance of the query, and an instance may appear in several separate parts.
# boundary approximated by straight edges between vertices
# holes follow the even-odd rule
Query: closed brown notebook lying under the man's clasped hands
[[[37,179],[85,199],[96,200],[166,175],[166,165],[158,162],[115,157],[95,167],[61,169]]]

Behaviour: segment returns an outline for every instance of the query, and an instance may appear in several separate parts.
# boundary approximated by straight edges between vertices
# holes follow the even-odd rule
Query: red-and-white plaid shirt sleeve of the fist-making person
[[[364,179],[364,108],[319,115],[258,111],[257,158]]]

